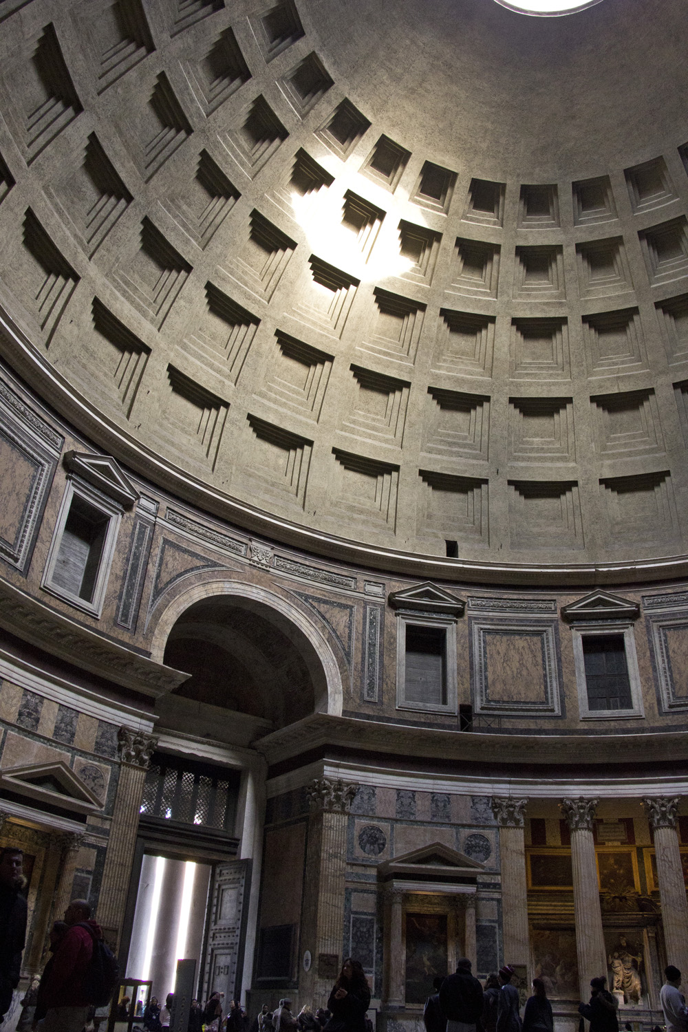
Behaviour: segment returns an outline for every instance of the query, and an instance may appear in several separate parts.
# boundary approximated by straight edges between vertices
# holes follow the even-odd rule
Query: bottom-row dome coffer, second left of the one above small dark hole
[[[244,469],[258,493],[272,497],[276,494],[302,509],[313,441],[251,413],[247,420],[250,438]]]

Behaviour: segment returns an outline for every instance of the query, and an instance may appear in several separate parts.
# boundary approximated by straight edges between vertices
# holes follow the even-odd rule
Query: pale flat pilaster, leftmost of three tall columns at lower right
[[[528,892],[526,885],[524,811],[527,799],[492,798],[492,812],[499,825],[501,865],[501,921],[504,963],[530,966]],[[529,978],[529,975],[526,975]],[[529,981],[528,981],[529,983]]]

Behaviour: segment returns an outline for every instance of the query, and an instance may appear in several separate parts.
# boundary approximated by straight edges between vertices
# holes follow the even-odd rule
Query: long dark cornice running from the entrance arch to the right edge
[[[323,746],[341,746],[388,755],[500,765],[563,766],[647,764],[688,760],[688,732],[602,735],[491,735],[358,720],[315,713],[257,739],[254,748],[271,766]]]

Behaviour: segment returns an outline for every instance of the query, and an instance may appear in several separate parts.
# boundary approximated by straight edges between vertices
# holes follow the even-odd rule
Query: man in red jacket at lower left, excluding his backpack
[[[86,900],[72,900],[65,911],[69,926],[55,952],[44,990],[47,1011],[38,1023],[39,1032],[81,1032],[91,1001],[84,990],[93,942],[102,939],[100,926],[91,921]],[[86,926],[86,927],[85,927]]]

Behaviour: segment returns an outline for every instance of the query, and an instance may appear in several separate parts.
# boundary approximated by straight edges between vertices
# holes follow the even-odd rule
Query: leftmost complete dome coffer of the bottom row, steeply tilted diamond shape
[[[50,344],[79,277],[30,207],[6,245],[2,279]]]

